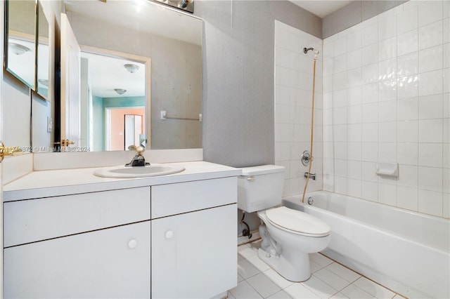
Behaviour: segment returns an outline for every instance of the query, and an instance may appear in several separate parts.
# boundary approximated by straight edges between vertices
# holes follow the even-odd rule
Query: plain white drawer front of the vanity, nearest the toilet
[[[180,182],[152,187],[152,219],[237,201],[236,177]]]

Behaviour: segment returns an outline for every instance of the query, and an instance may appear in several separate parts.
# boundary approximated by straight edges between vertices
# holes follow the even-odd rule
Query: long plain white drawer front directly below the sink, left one
[[[4,246],[150,219],[150,187],[4,203]]]

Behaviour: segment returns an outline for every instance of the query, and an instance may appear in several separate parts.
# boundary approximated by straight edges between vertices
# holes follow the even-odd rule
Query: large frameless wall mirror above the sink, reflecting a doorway
[[[148,0],[64,5],[61,140],[95,151],[124,150],[130,140],[202,147],[203,21]]]

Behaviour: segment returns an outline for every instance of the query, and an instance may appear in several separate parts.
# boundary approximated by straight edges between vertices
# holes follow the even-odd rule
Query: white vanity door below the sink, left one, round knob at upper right
[[[6,248],[4,298],[150,298],[150,221]]]

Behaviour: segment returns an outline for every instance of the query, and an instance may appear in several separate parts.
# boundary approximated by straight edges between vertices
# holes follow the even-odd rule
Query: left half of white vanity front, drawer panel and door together
[[[4,298],[150,298],[150,187],[11,201],[4,215]]]

